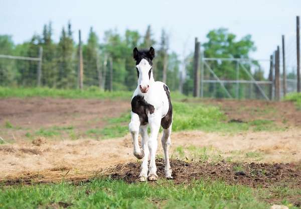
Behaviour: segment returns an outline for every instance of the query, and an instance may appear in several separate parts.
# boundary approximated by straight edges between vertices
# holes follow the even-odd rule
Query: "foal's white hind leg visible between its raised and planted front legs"
[[[142,150],[144,151],[144,158],[142,160],[141,164],[141,170],[139,174],[139,181],[146,181],[147,180],[147,164],[148,164],[148,157],[149,157],[149,151],[148,151],[148,134],[147,134],[147,125],[140,126],[140,135],[142,138]]]

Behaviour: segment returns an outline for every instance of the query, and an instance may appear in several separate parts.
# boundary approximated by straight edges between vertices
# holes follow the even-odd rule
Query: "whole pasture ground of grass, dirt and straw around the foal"
[[[160,180],[139,183],[131,92],[0,88],[0,207],[300,207],[300,95],[171,96],[174,180],[163,178],[160,134]]]

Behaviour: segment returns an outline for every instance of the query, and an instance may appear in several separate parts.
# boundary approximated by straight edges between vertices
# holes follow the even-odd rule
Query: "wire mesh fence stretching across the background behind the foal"
[[[84,89],[134,90],[136,88],[137,74],[131,56],[132,46],[115,50],[115,42],[107,44],[106,49],[97,43],[95,44],[97,47],[94,48],[87,43],[82,49],[83,74],[81,76],[79,47],[72,41],[72,35],[62,36],[64,41],[60,40],[57,44],[49,42],[47,36],[44,39],[41,41],[33,37],[31,42],[23,44],[23,48],[15,49],[17,54],[0,54],[0,86],[70,89],[79,88],[82,79]],[[297,91],[295,31],[285,34],[285,46],[283,46],[284,44],[281,48],[282,53],[278,56],[280,97],[284,96],[285,90],[287,93]],[[118,53],[113,53],[114,51]],[[193,94],[195,89],[199,89],[202,97],[267,100],[276,97],[275,53],[272,60],[254,60],[204,58],[202,51],[200,52],[198,56],[200,73],[194,72],[196,63],[192,55],[180,63],[176,55],[170,54],[167,75],[162,73],[161,68],[164,65],[157,61],[164,60],[163,55],[158,53],[153,62],[155,79],[162,80],[166,77],[171,90],[180,90],[189,95]],[[181,70],[180,65],[184,66]],[[199,85],[196,87],[194,82]]]

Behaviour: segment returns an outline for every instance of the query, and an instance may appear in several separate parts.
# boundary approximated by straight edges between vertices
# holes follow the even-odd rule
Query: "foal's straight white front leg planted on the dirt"
[[[150,127],[150,136],[148,139],[148,149],[150,153],[148,180],[156,181],[158,179],[156,167],[156,151],[158,147],[158,133],[161,126],[161,112],[148,115],[148,124]]]

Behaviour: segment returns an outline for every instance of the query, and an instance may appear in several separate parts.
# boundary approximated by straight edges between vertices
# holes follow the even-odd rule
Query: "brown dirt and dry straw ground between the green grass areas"
[[[229,183],[266,186],[266,182],[292,182],[295,181],[293,179],[301,179],[301,111],[297,111],[292,103],[210,99],[202,102],[219,105],[229,120],[272,120],[288,128],[285,131],[237,134],[201,131],[173,133],[170,153],[174,159],[172,167],[176,182],[216,177],[226,179]],[[14,134],[15,141],[0,146],[0,181],[7,184],[57,182],[62,179],[78,181],[108,174],[133,181],[138,175],[139,163],[132,155],[130,135],[101,141],[49,140],[43,137],[34,141],[24,139],[26,129],[70,125],[79,130],[93,126],[101,128],[106,124],[107,118],[118,117],[127,110],[129,102],[122,100],[1,99],[0,133]],[[4,132],[6,121],[22,129]],[[160,143],[159,140],[158,156],[162,157]],[[202,156],[196,158],[191,146],[197,150],[193,151],[197,155],[206,148],[208,156],[214,155],[229,161],[215,163],[209,158],[209,161],[212,160],[209,163],[200,162]],[[188,159],[181,158],[179,148],[184,150],[185,156],[189,156]],[[181,160],[176,160],[178,157]],[[234,171],[237,162],[244,173]],[[157,164],[159,175],[162,176],[162,160],[159,159]],[[301,185],[299,180],[294,184]]]

